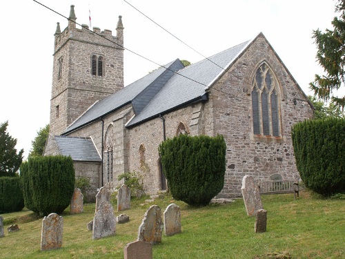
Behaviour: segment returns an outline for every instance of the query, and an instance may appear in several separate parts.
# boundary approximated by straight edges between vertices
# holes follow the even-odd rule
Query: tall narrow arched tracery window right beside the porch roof
[[[113,175],[112,175],[112,137],[113,137],[113,129],[112,124],[110,124],[107,128],[106,135],[104,137],[104,144],[103,144],[103,174],[104,174],[104,182],[112,182]]]

